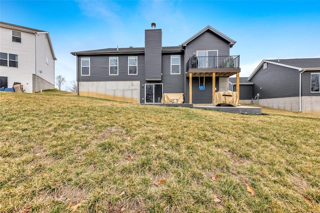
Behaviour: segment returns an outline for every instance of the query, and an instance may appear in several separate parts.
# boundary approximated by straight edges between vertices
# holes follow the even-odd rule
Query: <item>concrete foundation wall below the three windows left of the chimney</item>
[[[140,103],[140,81],[80,81],[79,95]]]

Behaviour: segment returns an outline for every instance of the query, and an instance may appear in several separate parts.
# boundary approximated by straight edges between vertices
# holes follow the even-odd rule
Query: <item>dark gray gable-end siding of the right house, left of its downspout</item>
[[[260,98],[299,96],[299,71],[288,67],[267,63],[250,79],[253,84],[253,96]],[[260,89],[261,87],[261,89]]]

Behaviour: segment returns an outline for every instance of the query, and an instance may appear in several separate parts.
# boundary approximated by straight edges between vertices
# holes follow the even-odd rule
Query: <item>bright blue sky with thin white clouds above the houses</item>
[[[76,79],[72,51],[143,47],[155,22],[162,45],[179,45],[210,25],[236,41],[245,77],[262,59],[320,57],[320,1],[0,0],[0,20],[48,31],[55,75]]]

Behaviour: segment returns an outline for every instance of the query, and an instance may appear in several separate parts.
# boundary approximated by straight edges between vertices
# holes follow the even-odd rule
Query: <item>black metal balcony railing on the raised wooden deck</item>
[[[186,63],[189,68],[239,68],[240,55],[191,56]]]

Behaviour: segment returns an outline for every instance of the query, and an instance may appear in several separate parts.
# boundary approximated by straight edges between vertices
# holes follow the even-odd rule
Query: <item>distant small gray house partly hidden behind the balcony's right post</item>
[[[247,80],[248,77],[240,77],[240,98],[239,103],[252,103],[253,82]],[[236,77],[229,77],[229,90],[236,91]]]

